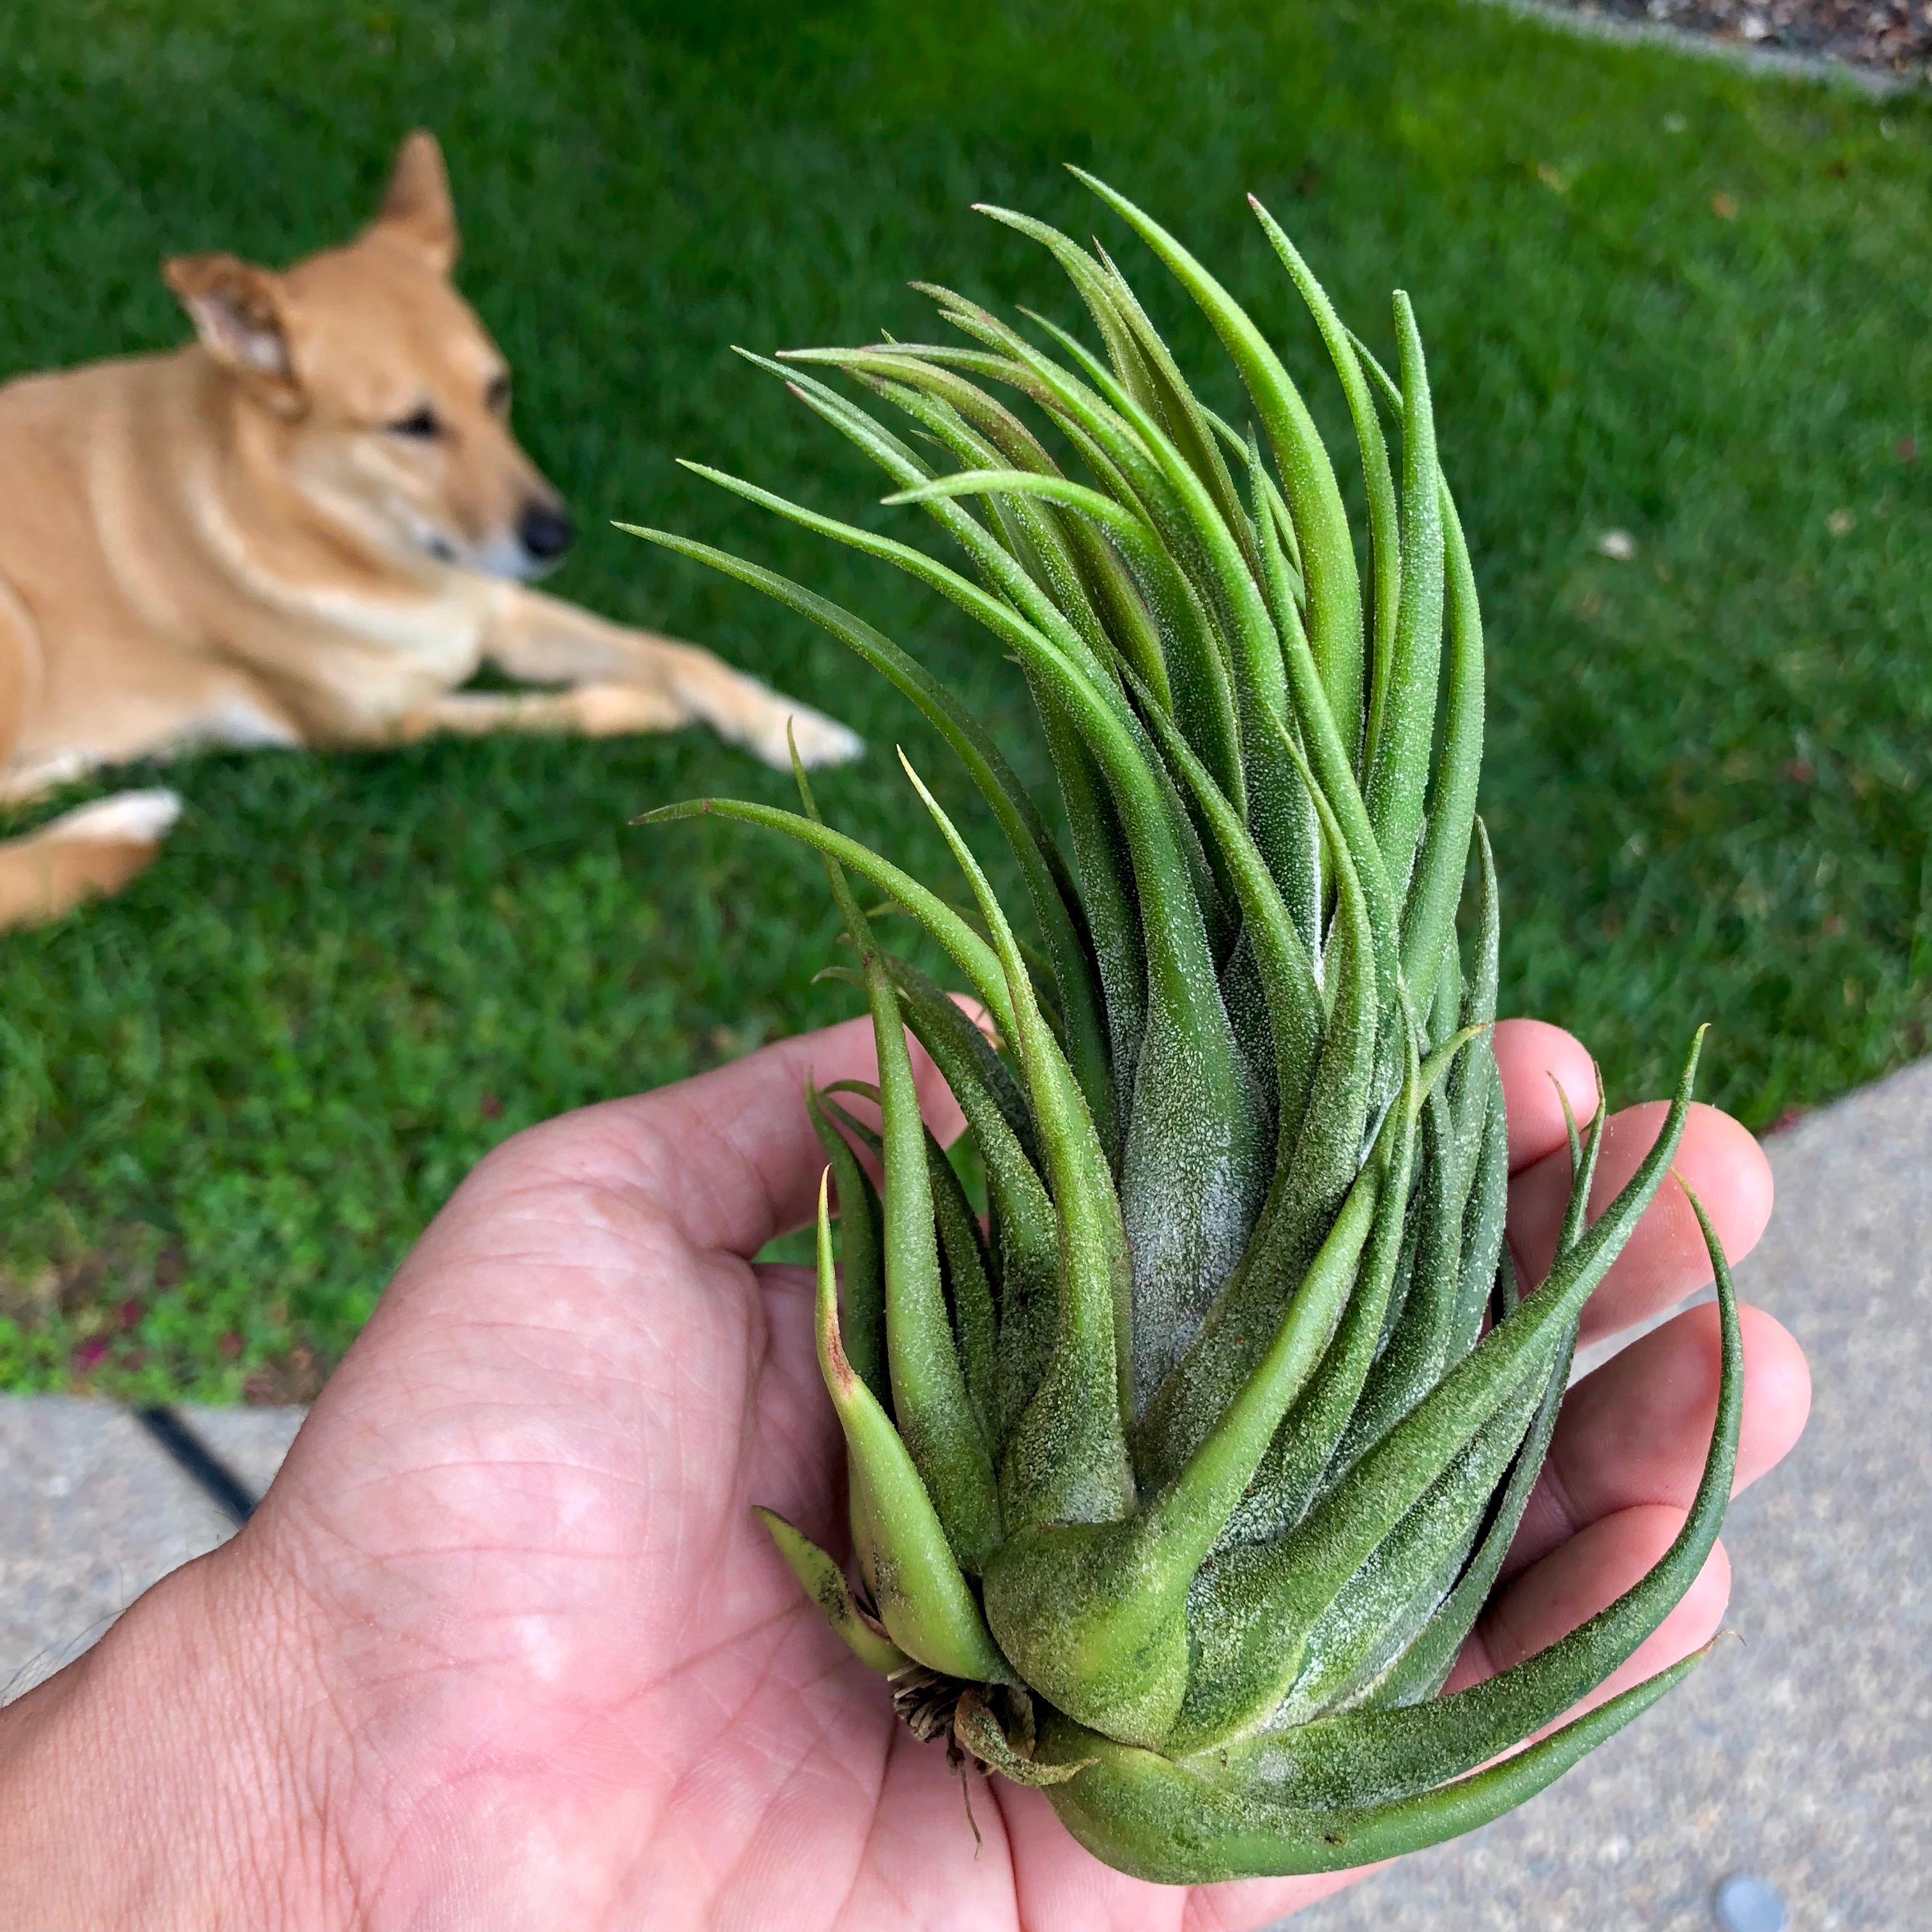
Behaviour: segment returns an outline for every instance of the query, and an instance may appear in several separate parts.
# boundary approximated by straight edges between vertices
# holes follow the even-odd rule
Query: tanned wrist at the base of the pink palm
[[[0,1924],[342,1924],[290,1634],[243,1536],[0,1712]]]

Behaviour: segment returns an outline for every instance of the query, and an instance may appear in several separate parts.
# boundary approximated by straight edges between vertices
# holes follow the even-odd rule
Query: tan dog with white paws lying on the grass
[[[199,342],[0,388],[0,798],[187,746],[701,721],[786,765],[842,724],[709,651],[526,587],[572,541],[508,427],[510,371],[450,284],[427,133],[383,211],[284,274],[185,255]],[[554,692],[460,692],[483,663]],[[120,792],[0,844],[0,927],[112,893],[174,823]]]

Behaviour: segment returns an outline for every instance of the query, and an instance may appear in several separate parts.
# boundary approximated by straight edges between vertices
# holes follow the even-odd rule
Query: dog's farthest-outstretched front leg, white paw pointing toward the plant
[[[694,643],[609,624],[541,591],[504,595],[483,651],[512,678],[653,692],[667,707],[663,724],[618,728],[667,730],[697,721],[781,771],[792,761],[788,724],[808,765],[842,765],[864,752],[844,724],[779,696]]]

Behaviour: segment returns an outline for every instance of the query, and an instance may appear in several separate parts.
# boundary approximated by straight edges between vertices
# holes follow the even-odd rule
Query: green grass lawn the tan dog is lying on
[[[1254,189],[1372,344],[1387,290],[1416,298],[1490,624],[1505,1010],[1575,1026],[1623,1097],[1712,1020],[1706,1092],[1758,1126],[1924,1047],[1924,102],[1422,0],[66,0],[0,15],[0,93],[4,373],[178,342],[162,253],[336,240],[396,137],[437,128],[464,286],[589,531],[556,587],[858,726],[873,752],[821,802],[933,879],[893,742],[949,804],[968,786],[910,707],[605,520],[808,578],[1018,738],[1010,667],[949,607],[672,456],[875,502],[726,344],[929,334],[914,274],[1074,321],[1045,259],[966,213],[1084,232],[1065,160],[1279,325],[1345,435]],[[1206,367],[1186,303],[1124,263]],[[1235,406],[1231,379],[1206,392]],[[1611,527],[1633,558],[1598,553]],[[699,790],[784,800],[697,734],[216,755],[168,782],[187,815],[137,889],[0,939],[4,1385],[307,1393],[504,1134],[852,1007],[811,983],[815,860],[628,829]]]

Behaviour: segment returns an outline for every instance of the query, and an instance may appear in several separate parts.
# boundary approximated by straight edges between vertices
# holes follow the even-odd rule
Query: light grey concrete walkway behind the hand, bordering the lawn
[[[1932,1063],[1770,1151],[1777,1213],[1739,1285],[1808,1349],[1816,1406],[1725,1528],[1745,1642],[1532,1804],[1296,1932],[1700,1932],[1739,1872],[1793,1932],[1932,1924]],[[189,1412],[257,1490],[299,1420]],[[0,1685],[226,1534],[131,1416],[0,1401]]]

